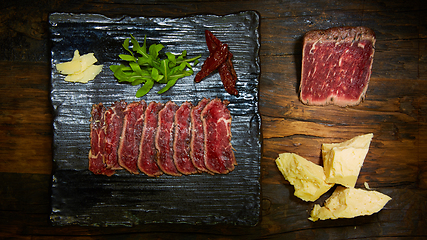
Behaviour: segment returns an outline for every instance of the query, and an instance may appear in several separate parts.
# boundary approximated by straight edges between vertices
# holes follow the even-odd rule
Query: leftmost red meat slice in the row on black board
[[[89,151],[89,170],[94,174],[111,176],[114,170],[107,169],[104,163],[104,112],[105,107],[102,103],[92,106],[90,119],[90,151]]]

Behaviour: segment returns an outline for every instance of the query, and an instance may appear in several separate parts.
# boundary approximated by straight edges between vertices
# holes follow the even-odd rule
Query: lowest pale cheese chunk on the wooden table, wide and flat
[[[319,204],[314,205],[309,219],[314,222],[319,219],[371,215],[379,212],[390,199],[389,196],[377,191],[338,186],[323,207]]]

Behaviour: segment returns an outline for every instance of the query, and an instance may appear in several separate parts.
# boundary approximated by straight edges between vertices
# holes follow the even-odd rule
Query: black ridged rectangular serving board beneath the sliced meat
[[[259,15],[253,11],[225,16],[196,15],[183,18],[108,18],[95,14],[53,13],[51,32],[51,101],[55,112],[54,170],[52,179],[53,225],[135,226],[145,223],[256,225],[260,216],[261,118],[258,111]],[[132,34],[147,45],[161,43],[162,51],[188,57],[209,55],[204,30],[211,30],[234,54],[239,77],[238,97],[225,92],[218,73],[201,83],[194,75],[180,79],[166,93],[162,86],[136,98],[136,86],[119,84],[109,70],[125,53],[121,44]],[[75,49],[93,52],[102,72],[87,84],[65,82],[55,64],[70,61]],[[201,63],[194,67],[195,73]],[[238,165],[227,175],[195,174],[158,178],[132,175],[125,170],[111,177],[88,170],[89,119],[93,104],[110,106],[173,100],[177,104],[218,97],[230,102],[232,145]]]

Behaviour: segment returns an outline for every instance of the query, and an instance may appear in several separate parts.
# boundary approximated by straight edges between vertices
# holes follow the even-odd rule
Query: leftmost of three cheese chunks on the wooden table
[[[282,153],[277,167],[295,188],[294,195],[304,201],[315,201],[334,184],[325,182],[323,168],[294,153]]]

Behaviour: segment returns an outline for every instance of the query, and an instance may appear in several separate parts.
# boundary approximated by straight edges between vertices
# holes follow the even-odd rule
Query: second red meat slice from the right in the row
[[[209,99],[203,98],[197,106],[191,109],[191,142],[190,142],[190,157],[193,165],[199,172],[210,172],[205,166],[205,135],[203,133],[203,122],[201,119],[202,110]]]

